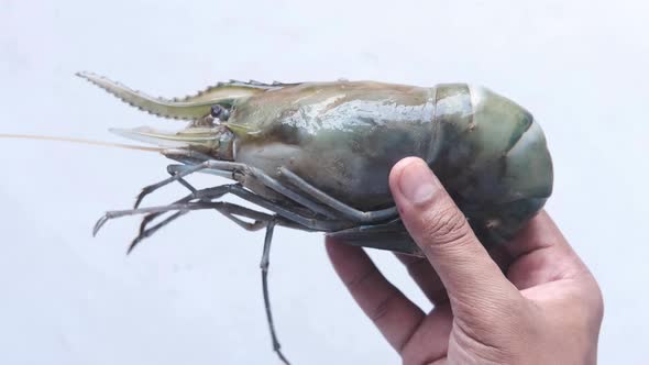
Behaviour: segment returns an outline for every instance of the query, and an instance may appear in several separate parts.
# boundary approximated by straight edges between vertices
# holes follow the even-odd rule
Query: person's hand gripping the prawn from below
[[[362,248],[328,240],[327,250],[404,364],[596,363],[600,288],[544,211],[492,257],[424,161],[400,161],[389,184],[426,254],[398,257],[432,311],[388,283]]]

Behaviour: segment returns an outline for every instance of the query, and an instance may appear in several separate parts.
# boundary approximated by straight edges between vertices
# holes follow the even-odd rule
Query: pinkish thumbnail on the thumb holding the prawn
[[[399,189],[414,204],[428,202],[437,190],[437,180],[430,168],[422,161],[413,162],[402,172]]]

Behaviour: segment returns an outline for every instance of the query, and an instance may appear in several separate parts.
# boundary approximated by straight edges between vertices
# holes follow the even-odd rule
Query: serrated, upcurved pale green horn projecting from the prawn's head
[[[162,118],[190,121],[209,115],[212,106],[218,104],[229,110],[239,99],[285,86],[283,84],[230,80],[228,82],[219,82],[194,96],[165,99],[151,97],[97,74],[82,71],[76,75],[140,110]]]

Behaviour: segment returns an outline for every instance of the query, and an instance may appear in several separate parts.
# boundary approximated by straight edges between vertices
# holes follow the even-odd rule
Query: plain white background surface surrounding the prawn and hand
[[[120,141],[109,126],[183,126],[73,76],[84,69],[167,97],[229,78],[488,86],[547,133],[548,210],[605,296],[601,363],[640,364],[648,14],[647,2],[628,0],[0,0],[0,132]],[[136,219],[90,237],[103,210],[128,208],[166,164],[143,152],[0,141],[0,363],[277,363],[257,269],[263,233],[198,212],[129,257]],[[169,187],[148,203],[182,193]],[[392,255],[373,256],[429,307]],[[334,276],[320,234],[277,230],[271,287],[294,363],[398,362]]]

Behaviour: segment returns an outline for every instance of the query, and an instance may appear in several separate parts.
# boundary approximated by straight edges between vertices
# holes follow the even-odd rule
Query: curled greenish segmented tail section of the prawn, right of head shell
[[[439,145],[431,164],[481,242],[502,244],[552,193],[552,159],[531,113],[482,88],[437,90]]]

